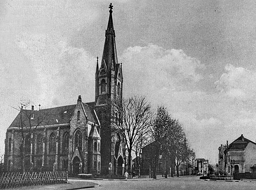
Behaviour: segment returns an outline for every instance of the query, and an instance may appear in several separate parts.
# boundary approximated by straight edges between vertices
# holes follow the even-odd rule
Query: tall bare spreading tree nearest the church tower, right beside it
[[[131,152],[135,144],[142,141],[151,125],[151,105],[147,102],[146,97],[130,97],[116,100],[113,105],[114,110],[118,113],[115,118],[121,122],[116,129],[117,133],[122,135],[127,146],[127,171],[130,173]]]

